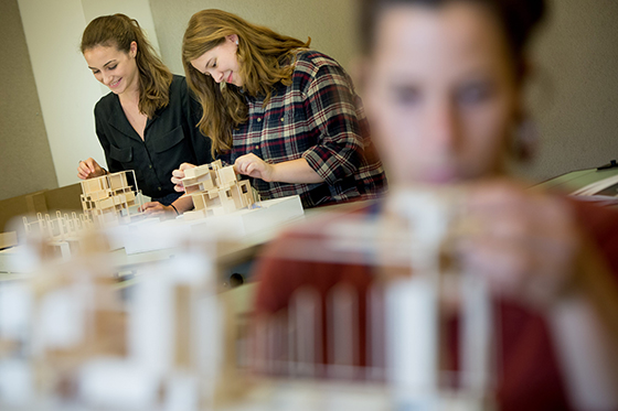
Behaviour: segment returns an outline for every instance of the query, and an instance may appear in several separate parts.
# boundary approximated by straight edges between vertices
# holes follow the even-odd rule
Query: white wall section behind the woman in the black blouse
[[[94,106],[107,94],[79,52],[87,23],[103,14],[137,19],[158,47],[148,0],[19,0],[23,30],[60,186],[77,179],[88,156],[105,164],[95,134]]]

